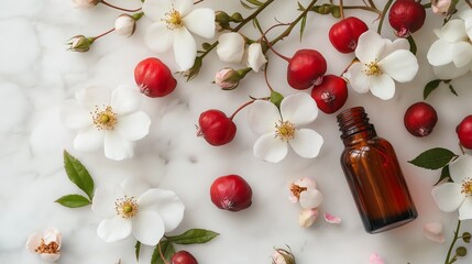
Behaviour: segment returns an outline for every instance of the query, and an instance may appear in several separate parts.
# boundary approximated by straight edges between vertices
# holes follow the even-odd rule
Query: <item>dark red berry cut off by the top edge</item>
[[[388,22],[399,37],[408,37],[421,29],[425,19],[425,7],[415,0],[397,0],[392,4],[388,13]]]

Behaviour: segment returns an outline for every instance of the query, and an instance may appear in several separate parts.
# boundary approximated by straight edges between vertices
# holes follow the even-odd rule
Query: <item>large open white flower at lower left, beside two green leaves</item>
[[[102,240],[114,242],[133,234],[146,245],[156,245],[165,232],[177,228],[184,209],[174,191],[149,189],[131,178],[97,189],[91,205],[91,210],[103,218],[97,229]]]

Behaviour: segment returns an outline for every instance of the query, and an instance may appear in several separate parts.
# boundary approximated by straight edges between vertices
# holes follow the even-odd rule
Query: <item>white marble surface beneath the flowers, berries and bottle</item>
[[[138,0],[113,2],[128,8],[140,4]],[[375,2],[383,7],[385,1]],[[200,4],[228,12],[242,10],[237,0],[206,0]],[[276,1],[273,6],[262,15],[264,28],[273,24],[274,18],[292,21],[297,14],[296,1]],[[218,62],[215,53],[205,61],[196,79],[186,82],[177,76],[178,86],[171,96],[145,99],[144,110],[152,117],[152,127],[150,134],[138,143],[134,158],[113,162],[105,158],[101,152],[75,151],[74,132],[65,129],[58,119],[61,103],[89,85],[113,88],[134,84],[132,73],[136,63],[156,56],[143,44],[144,30],[150,23],[145,18],[129,38],[111,34],[94,44],[86,54],[66,51],[64,43],[70,36],[105,32],[120,13],[101,4],[91,10],[77,10],[68,0],[0,3],[0,263],[42,263],[24,244],[30,233],[48,227],[59,229],[64,235],[59,263],[111,264],[119,258],[123,264],[136,262],[133,239],[106,243],[97,237],[100,219],[89,207],[68,209],[54,202],[63,195],[77,191],[63,168],[64,148],[88,167],[96,186],[133,176],[175,190],[186,205],[184,221],[175,233],[206,228],[221,234],[208,244],[177,246],[191,251],[204,264],[270,263],[273,248],[285,244],[293,249],[300,264],[369,263],[373,252],[386,263],[443,262],[457,213],[441,212],[430,196],[439,172],[414,167],[407,161],[433,146],[459,153],[454,128],[472,112],[472,74],[453,81],[460,97],[441,87],[428,98],[439,114],[439,123],[430,136],[416,139],[407,133],[403,114],[408,106],[422,99],[422,87],[433,78],[426,52],[435,40],[431,29],[439,26],[441,19],[430,10],[426,26],[415,34],[420,69],[414,81],[397,85],[397,92],[389,101],[350,90],[344,106],[365,107],[378,134],[393,143],[419,212],[416,221],[374,235],[364,232],[339,165],[343,146],[334,114],[320,113],[311,125],[325,138],[321,153],[314,160],[300,158],[292,152],[278,164],[256,160],[252,145],[257,135],[249,129],[245,111],[234,120],[238,134],[230,144],[213,147],[196,136],[195,124],[200,112],[216,108],[230,114],[249,95],[268,95],[262,74],[250,74],[233,91],[222,91],[212,85],[216,70],[226,66]],[[348,14],[356,13],[350,11]],[[365,12],[359,15],[372,29],[376,28],[373,15]],[[327,32],[334,21],[330,16],[310,14],[303,42],[298,42],[298,34],[294,33],[276,48],[287,55],[301,47],[316,48],[328,58],[328,73],[338,75],[353,55],[341,55],[329,44]],[[256,36],[251,25],[245,26],[244,32]],[[384,25],[383,35],[393,37],[388,23]],[[176,68],[171,54],[157,56]],[[273,54],[270,56],[268,77],[274,88],[284,95],[294,94],[284,77],[285,62]],[[251,184],[254,196],[248,210],[233,213],[211,204],[212,180],[227,174],[239,174]],[[342,224],[330,226],[319,219],[309,229],[298,227],[299,208],[287,200],[287,187],[301,176],[318,182],[325,195],[321,210],[340,216]],[[422,226],[431,221],[444,224],[444,244],[422,237]],[[470,221],[463,227],[472,230]],[[144,246],[141,263],[149,263],[151,250]],[[460,263],[471,260],[469,256]]]

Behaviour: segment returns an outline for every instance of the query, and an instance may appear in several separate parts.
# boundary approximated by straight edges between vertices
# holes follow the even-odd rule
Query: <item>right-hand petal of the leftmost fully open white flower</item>
[[[120,117],[114,125],[114,130],[128,141],[138,141],[149,134],[150,125],[150,117],[140,111],[125,117]]]

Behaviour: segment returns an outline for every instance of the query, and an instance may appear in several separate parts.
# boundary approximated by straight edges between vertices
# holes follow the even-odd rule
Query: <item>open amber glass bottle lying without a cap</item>
[[[383,232],[418,216],[395,152],[378,138],[364,108],[338,114],[344,151],[341,166],[369,233]]]

